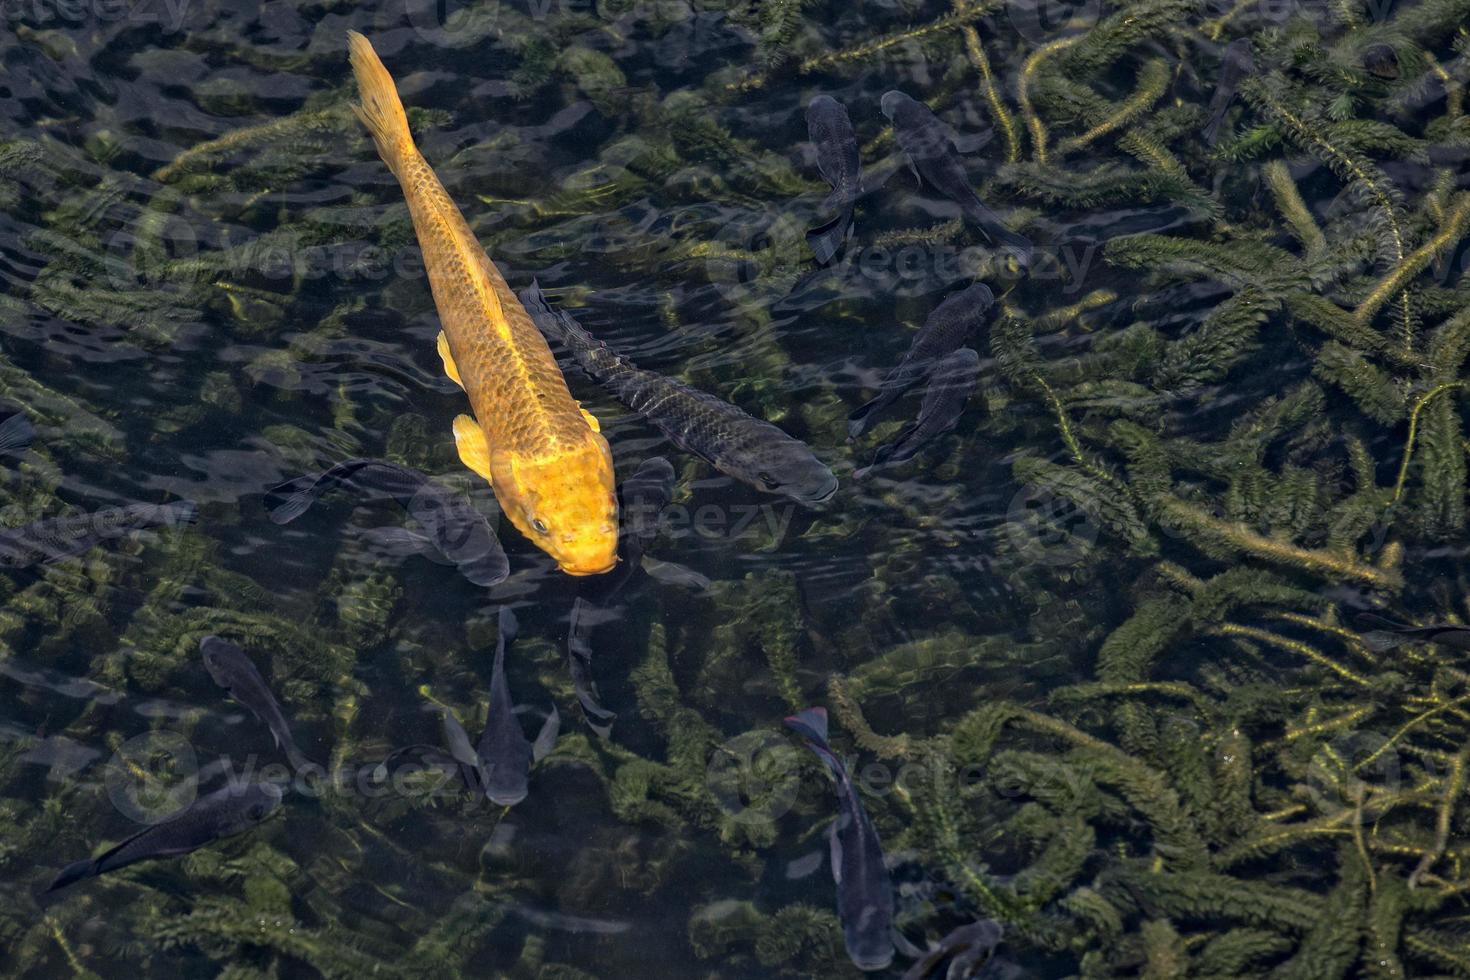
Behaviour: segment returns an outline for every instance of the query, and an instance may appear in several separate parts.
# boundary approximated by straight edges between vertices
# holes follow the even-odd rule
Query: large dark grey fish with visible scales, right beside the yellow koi
[[[570,351],[594,381],[645,417],[676,447],[714,469],[798,504],[820,504],[836,492],[836,478],[798,439],[714,395],[642,370],[588,334],[564,310],[547,306],[535,282],[520,291],[531,319]]]

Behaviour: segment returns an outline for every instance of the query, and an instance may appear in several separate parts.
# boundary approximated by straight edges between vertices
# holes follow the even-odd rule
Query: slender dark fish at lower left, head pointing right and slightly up
[[[96,858],[66,865],[47,892],[66,887],[82,879],[116,871],[137,861],[169,858],[197,851],[222,837],[254,827],[281,805],[281,788],[272,783],[229,785],[157,823],[140,830],[118,846]]]

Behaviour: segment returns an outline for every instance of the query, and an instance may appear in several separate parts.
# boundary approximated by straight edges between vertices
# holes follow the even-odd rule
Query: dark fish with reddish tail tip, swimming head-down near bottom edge
[[[836,914],[842,923],[847,955],[858,970],[883,970],[894,961],[894,884],[857,788],[847,767],[828,745],[825,708],[807,708],[786,718],[808,749],[826,763],[836,780],[838,818],[832,824],[832,877],[836,880]]]

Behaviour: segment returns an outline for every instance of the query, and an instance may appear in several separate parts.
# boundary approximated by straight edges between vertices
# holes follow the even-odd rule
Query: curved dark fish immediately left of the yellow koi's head
[[[406,466],[344,460],[320,476],[300,476],[272,486],[266,492],[270,520],[278,525],[290,523],[304,514],[322,494],[340,486],[395,500],[419,522],[428,538],[400,529],[394,541],[407,542],[415,551],[426,544],[475,585],[488,588],[510,576],[510,560],[485,516],[462,495]]]

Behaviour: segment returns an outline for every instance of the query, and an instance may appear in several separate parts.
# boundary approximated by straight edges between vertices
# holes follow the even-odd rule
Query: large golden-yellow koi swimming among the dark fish
[[[607,572],[617,563],[607,439],[573,401],[551,348],[413,144],[378,53],[356,31],[347,38],[362,97],[357,118],[398,178],[423,250],[444,328],[444,372],[475,410],[454,419],[460,460],[490,480],[510,523],[563,572]]]

